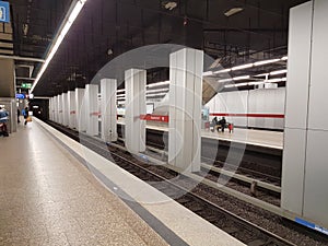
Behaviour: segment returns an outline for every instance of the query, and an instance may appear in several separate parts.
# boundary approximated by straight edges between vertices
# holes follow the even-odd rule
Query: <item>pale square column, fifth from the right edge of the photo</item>
[[[98,136],[98,85],[85,86],[86,134]]]

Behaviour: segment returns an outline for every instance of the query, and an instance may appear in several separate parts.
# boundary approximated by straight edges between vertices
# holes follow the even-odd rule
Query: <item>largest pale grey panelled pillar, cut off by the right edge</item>
[[[291,10],[281,207],[328,235],[328,1]]]

